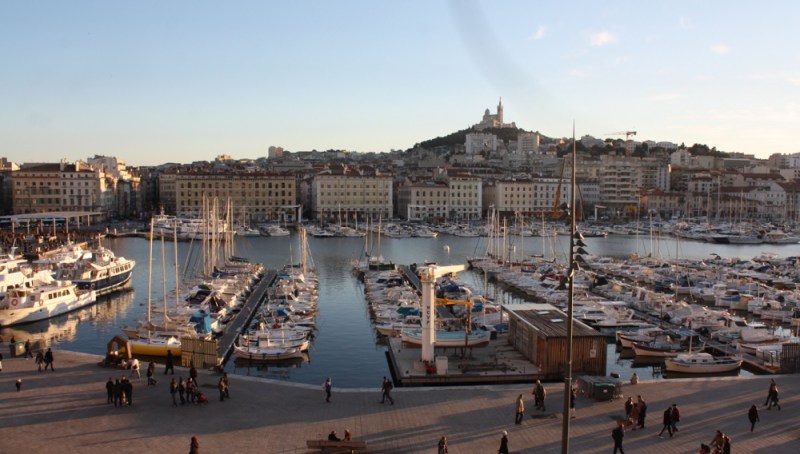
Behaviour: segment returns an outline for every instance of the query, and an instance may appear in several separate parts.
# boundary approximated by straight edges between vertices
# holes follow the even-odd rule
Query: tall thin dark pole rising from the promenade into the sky
[[[567,270],[567,360],[564,370],[564,415],[562,417],[561,453],[569,452],[570,398],[572,394],[572,303],[575,292],[575,167],[577,163],[575,146],[575,123],[572,123],[572,183],[570,190],[570,229],[569,229],[569,269]]]

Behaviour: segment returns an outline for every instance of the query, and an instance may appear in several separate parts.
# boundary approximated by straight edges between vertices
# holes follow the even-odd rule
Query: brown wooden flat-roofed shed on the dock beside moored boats
[[[545,380],[563,380],[567,358],[567,314],[551,304],[503,305],[508,313],[508,342],[539,367]],[[606,374],[606,340],[585,323],[574,320],[572,373]]]

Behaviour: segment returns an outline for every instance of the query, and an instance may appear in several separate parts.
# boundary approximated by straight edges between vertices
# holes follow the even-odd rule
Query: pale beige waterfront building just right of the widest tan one
[[[388,219],[394,214],[392,177],[372,167],[331,164],[314,176],[311,204],[315,219],[354,214],[360,219]]]

